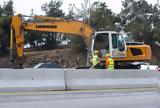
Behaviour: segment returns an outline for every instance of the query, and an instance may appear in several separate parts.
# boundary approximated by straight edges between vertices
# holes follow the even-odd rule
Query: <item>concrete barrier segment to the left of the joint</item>
[[[0,92],[65,89],[62,69],[0,69]]]

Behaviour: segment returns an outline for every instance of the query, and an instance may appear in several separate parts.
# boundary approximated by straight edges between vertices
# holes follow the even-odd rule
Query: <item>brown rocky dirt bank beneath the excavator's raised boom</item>
[[[24,68],[31,68],[38,63],[52,62],[65,68],[86,66],[86,52],[75,52],[72,49],[26,52]]]

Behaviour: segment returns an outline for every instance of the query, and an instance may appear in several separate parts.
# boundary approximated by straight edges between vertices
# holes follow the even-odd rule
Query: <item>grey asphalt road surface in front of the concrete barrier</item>
[[[0,93],[0,108],[160,108],[156,90]]]

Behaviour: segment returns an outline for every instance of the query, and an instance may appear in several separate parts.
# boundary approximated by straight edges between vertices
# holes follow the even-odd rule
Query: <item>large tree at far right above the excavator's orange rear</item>
[[[148,4],[145,0],[124,0],[122,5],[121,25],[134,40],[150,45],[160,41],[160,11],[157,5]]]

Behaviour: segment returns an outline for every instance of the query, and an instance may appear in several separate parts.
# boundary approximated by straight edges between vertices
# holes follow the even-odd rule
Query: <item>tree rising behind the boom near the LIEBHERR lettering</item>
[[[60,9],[62,1],[51,0],[49,3],[42,5],[41,9],[45,12],[46,16],[49,17],[64,17],[63,11]],[[60,33],[44,33],[45,46],[49,49],[56,48],[61,41],[64,39]]]

